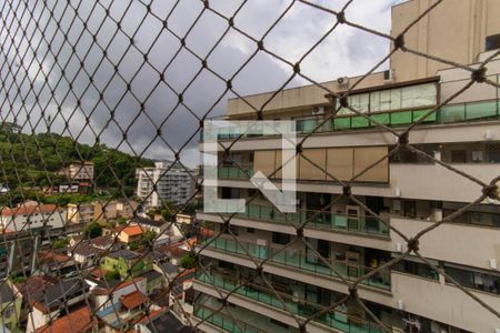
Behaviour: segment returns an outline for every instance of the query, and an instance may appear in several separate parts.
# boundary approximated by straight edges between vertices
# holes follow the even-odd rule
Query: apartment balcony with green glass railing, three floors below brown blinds
[[[198,284],[202,284],[199,287]],[[343,311],[326,311],[326,306],[319,305],[317,303],[309,302],[304,299],[298,297],[293,294],[290,294],[289,291],[281,291],[281,286],[273,286],[274,290],[270,290],[268,287],[257,285],[253,283],[246,282],[242,284],[242,281],[238,281],[231,276],[220,274],[220,273],[200,273],[197,271],[197,283],[194,287],[201,292],[204,292],[206,289],[203,286],[208,286],[213,291],[212,296],[220,297],[217,291],[214,291],[214,286],[223,290],[226,292],[233,292],[229,297],[230,302],[233,303],[243,303],[244,307],[260,312],[267,313],[268,315],[272,315],[271,311],[280,310],[281,315],[283,312],[288,314],[289,320],[292,321],[289,323],[293,324],[293,319],[290,316],[290,313],[302,317],[303,320],[313,316],[312,324],[314,324],[316,330],[311,330],[308,327],[309,332],[321,332],[328,331],[324,330],[327,327],[338,330],[340,332],[360,332],[360,333],[376,333],[376,332],[386,332],[383,327],[368,322],[363,319],[353,316]],[[279,295],[279,297],[278,297]],[[236,300],[240,300],[240,302],[234,302]],[[243,302],[241,302],[243,300]],[[250,302],[248,302],[250,301]],[[264,305],[267,311],[259,311],[261,309],[257,309],[253,304],[259,304],[260,306]],[[323,312],[321,315],[318,313]],[[319,324],[319,325],[318,325]],[[297,322],[294,323],[297,326]],[[319,326],[319,327],[318,327]],[[321,330],[323,327],[323,330]]]

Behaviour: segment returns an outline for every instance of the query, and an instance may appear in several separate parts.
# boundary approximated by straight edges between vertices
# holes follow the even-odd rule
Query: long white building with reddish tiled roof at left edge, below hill
[[[60,229],[66,225],[66,210],[56,204],[34,201],[20,203],[16,208],[3,208],[0,215],[0,229],[11,231]]]

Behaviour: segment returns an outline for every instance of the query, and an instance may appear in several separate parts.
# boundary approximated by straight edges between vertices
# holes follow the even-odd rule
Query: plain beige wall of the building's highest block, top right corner
[[[436,0],[412,0],[392,7],[392,31],[397,37]],[[406,34],[406,47],[458,63],[473,63],[486,50],[486,37],[500,33],[497,0],[442,1]],[[428,60],[410,52],[391,57],[396,80],[406,81],[434,75],[449,64]]]

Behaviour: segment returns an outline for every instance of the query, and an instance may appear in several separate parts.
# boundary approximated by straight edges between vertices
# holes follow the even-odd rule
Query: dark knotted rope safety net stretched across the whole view
[[[257,23],[256,28],[246,21],[246,12],[249,7],[254,6],[252,1],[239,1],[231,6],[208,0],[192,1],[189,6],[187,1],[179,0],[2,1],[1,284],[2,287],[12,290],[10,300],[2,299],[2,302],[17,304],[22,297],[22,306],[14,307],[20,319],[19,327],[26,327],[30,321],[34,321],[34,311],[43,304],[46,322],[41,327],[48,332],[52,331],[54,323],[62,316],[67,319],[67,327],[73,332],[98,326],[102,329],[103,323],[122,331],[132,330],[140,323],[152,323],[150,330],[166,332],[166,326],[153,321],[159,309],[166,307],[172,309],[192,330],[201,330],[203,324],[211,323],[229,331],[259,332],[262,330],[233,315],[231,305],[237,295],[253,297],[256,294],[257,301],[260,301],[259,297],[267,299],[269,304],[290,315],[303,332],[309,331],[310,325],[321,321],[326,314],[336,313],[348,303],[356,303],[367,314],[360,324],[370,330],[367,332],[391,332],[392,329],[359,295],[359,290],[367,283],[370,284],[369,281],[374,278],[380,280],[380,276],[388,274],[410,255],[417,256],[431,271],[479,303],[484,312],[500,319],[498,307],[479,297],[469,287],[462,286],[436,261],[423,256],[419,244],[422,238],[458,219],[471,208],[486,200],[499,200],[497,184],[500,175],[489,181],[478,179],[437,159],[410,140],[412,131],[426,124],[426,120],[434,117],[438,110],[474,84],[500,88],[498,82],[487,75],[488,65],[500,52],[479,64],[469,65],[409,48],[404,42],[407,33],[444,0],[434,1],[397,37],[351,20],[347,14],[349,9],[362,1],[342,2],[336,9],[320,1],[306,0],[286,1],[278,7],[269,4],[267,10],[272,19],[262,24]],[[309,43],[304,43],[308,47],[300,50],[300,54],[289,57],[268,40],[276,41],[272,34],[281,29],[280,24],[290,16],[297,14],[298,10],[309,10],[314,16],[329,18],[330,24],[308,40]],[[207,38],[193,38],[210,27],[216,27],[216,32]],[[357,77],[347,89],[338,92],[308,74],[304,68],[311,54],[339,30],[347,28],[362,31],[366,36],[393,47],[390,52],[373,60],[370,69]],[[244,48],[247,52],[241,52],[244,54],[241,59],[229,61],[224,58],[228,46]],[[363,49],[360,48],[359,52],[363,52]],[[350,103],[349,97],[369,75],[383,69],[390,57],[398,52],[462,69],[469,72],[470,80],[453,95],[438,101],[411,123],[394,127],[376,114],[360,111]],[[267,78],[264,68],[257,68],[262,80],[276,81],[276,89],[266,94],[263,101],[256,103],[246,97],[248,82],[241,78],[246,78],[244,74],[249,71],[256,71],[259,59],[267,59],[269,63],[282,68],[287,75],[278,82]],[[339,265],[312,244],[316,241],[304,236],[306,230],[313,228],[311,224],[316,223],[316,219],[331,211],[337,201],[323,204],[312,214],[299,219],[300,221],[292,214],[283,214],[280,225],[288,228],[290,238],[279,250],[266,253],[238,236],[232,224],[233,219],[239,218],[238,213],[216,214],[220,223],[197,221],[188,228],[176,219],[177,214],[192,214],[194,210],[201,210],[203,176],[193,170],[194,165],[190,161],[193,159],[193,151],[198,150],[203,121],[219,117],[222,103],[229,98],[238,98],[251,110],[252,114],[248,119],[262,120],[266,118],[263,111],[267,107],[284,89],[296,87],[296,82],[316,85],[337,101],[329,105],[328,115],[298,137],[297,158],[326,174],[328,183],[340,186],[341,194],[337,201],[349,199],[406,243],[403,251],[377,268],[360,271],[354,278],[339,271]],[[210,92],[207,92],[207,85],[211,85]],[[197,95],[202,99],[193,99]],[[370,123],[379,132],[392,134],[397,139],[383,157],[356,172],[349,180],[341,180],[306,154],[303,147],[307,147],[314,134],[324,132],[326,127],[346,119],[342,115],[347,112]],[[239,134],[228,137],[219,143],[224,153],[224,159],[219,161],[221,168],[231,159],[232,149],[246,139],[244,134]],[[368,206],[359,195],[353,194],[360,185],[358,179],[402,152],[411,152],[422,161],[439,164],[447,173],[466,178],[482,190],[477,193],[476,200],[432,222],[428,228],[412,235],[404,234],[391,225],[386,216]],[[144,212],[143,208],[148,206],[161,181],[161,176],[153,179],[153,174],[148,171],[153,165],[151,157],[170,160],[168,167],[161,169],[162,174],[178,171],[196,184],[183,202],[173,204],[160,198],[161,210],[152,212],[160,213],[166,220],[159,231],[151,231],[146,224],[137,223],[143,213],[150,213]],[[89,172],[90,164],[86,164],[89,161],[92,162],[92,176],[86,181],[84,178],[81,179],[81,173]],[[239,178],[251,176],[247,165],[237,160],[231,163]],[[70,164],[77,165],[73,168],[78,170],[70,172]],[[149,180],[149,188],[146,189],[146,195],[137,196],[137,176],[141,171],[142,176]],[[280,169],[274,170],[270,176],[278,172]],[[247,199],[248,210],[258,196],[259,193],[256,192]],[[94,215],[91,222],[81,223],[87,214],[88,202],[92,202]],[[96,202],[99,202],[99,211]],[[113,213],[110,218],[109,211],[117,210],[117,202],[122,204],[121,210],[127,213],[122,216]],[[13,218],[10,219],[16,214],[28,216],[27,221],[31,219],[31,222],[18,224]],[[73,222],[74,220],[78,221]],[[63,221],[63,224],[54,228],[54,221]],[[214,224],[218,228],[213,228]],[[121,233],[127,226],[139,229],[137,233],[142,234],[128,245],[123,244]],[[172,235],[172,228],[179,230],[180,234]],[[101,235],[103,232],[106,236]],[[197,245],[192,241],[196,235]],[[133,234],[129,236],[133,238]],[[162,243],[166,236],[168,242]],[[99,248],[98,241],[106,244]],[[468,246],[473,246],[473,241],[476,240],[471,240]],[[164,249],[172,244],[183,244],[187,253],[179,260],[181,263],[173,273],[166,271],[163,264]],[[323,274],[318,271],[318,266],[321,266],[321,270],[328,272],[324,273],[328,279],[334,279],[344,286],[342,296],[330,304],[302,301],[303,309],[308,311],[300,313],[290,305],[297,303],[294,296],[279,290],[270,281],[268,270],[268,266],[276,263],[282,264],[282,258],[291,253],[287,251],[298,244],[306,249],[308,255],[314,256],[314,273]],[[447,244],[443,243],[442,246]],[[84,249],[88,251],[84,252]],[[169,258],[173,258],[174,252],[179,251],[176,249],[168,248]],[[248,260],[252,274],[244,279],[217,275],[213,260],[203,255],[214,249],[224,249],[234,258]],[[110,263],[108,259],[113,258],[117,252],[130,263],[126,270],[120,271],[117,266],[116,271],[111,271],[107,266]],[[78,259],[78,255],[84,259]],[[127,258],[128,255],[131,256]],[[84,261],[86,264],[76,261]],[[149,270],[144,269],[148,265]],[[163,282],[156,292],[148,293],[144,290],[149,286],[144,289],[137,276],[138,272],[152,272],[153,265],[154,272],[161,275]],[[287,265],[308,270],[306,265],[301,265],[300,259],[298,263],[289,262]],[[221,300],[217,306],[201,306],[206,295],[199,292],[182,299],[177,296],[179,289],[182,292],[182,285],[193,279],[194,274],[198,283],[209,285]],[[91,281],[99,282],[96,285]],[[126,284],[129,285],[127,295],[117,296]],[[134,290],[138,293],[134,294]],[[97,301],[98,299],[103,301]],[[110,306],[111,300],[114,301]],[[86,309],[86,315],[79,314],[81,306]],[[196,315],[200,306],[202,314]],[[2,307],[4,325],[9,324],[8,307]],[[123,309],[133,316],[127,317]],[[352,321],[356,322],[353,319]],[[224,326],[229,323],[230,326]]]

